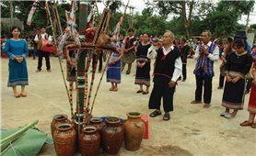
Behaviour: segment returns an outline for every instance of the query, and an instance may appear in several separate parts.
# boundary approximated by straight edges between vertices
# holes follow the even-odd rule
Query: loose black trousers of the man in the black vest
[[[161,98],[163,97],[163,107],[165,112],[173,111],[173,95],[175,86],[169,87],[170,79],[164,76],[154,77],[154,87],[149,98],[149,109],[160,109]]]

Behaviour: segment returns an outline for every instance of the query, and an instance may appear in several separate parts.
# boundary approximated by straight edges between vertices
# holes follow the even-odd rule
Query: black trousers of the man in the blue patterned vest
[[[196,90],[195,90],[195,100],[202,101],[202,93],[204,86],[204,104],[210,104],[212,99],[212,82],[213,77],[204,75],[195,75],[196,79]]]

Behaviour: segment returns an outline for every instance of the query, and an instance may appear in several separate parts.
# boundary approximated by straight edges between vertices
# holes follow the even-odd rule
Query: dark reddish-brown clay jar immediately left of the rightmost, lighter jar
[[[124,133],[118,117],[107,117],[102,129],[103,150],[106,154],[117,154],[122,146]]]

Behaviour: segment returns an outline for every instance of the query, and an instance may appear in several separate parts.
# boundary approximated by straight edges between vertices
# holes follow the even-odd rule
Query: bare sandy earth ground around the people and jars
[[[15,98],[12,89],[6,87],[8,60],[1,61],[1,128],[16,128],[33,119],[39,119],[37,127],[51,135],[50,124],[54,115],[62,113],[70,117],[58,59],[51,58],[52,72],[46,72],[43,61],[43,70],[38,73],[35,72],[37,60],[27,60],[29,86],[26,98]],[[212,107],[205,109],[202,105],[191,105],[195,89],[195,78],[192,74],[194,63],[195,61],[189,60],[188,81],[180,82],[177,87],[174,95],[175,110],[171,113],[171,119],[163,121],[162,117],[149,118],[149,139],[144,139],[141,149],[134,152],[125,150],[122,146],[120,155],[256,155],[256,130],[239,126],[240,122],[248,118],[249,95],[246,95],[244,110],[239,111],[236,118],[226,119],[219,116],[224,107],[221,106],[223,90],[216,89],[220,63],[218,61],[215,63]],[[65,61],[63,65],[65,71]],[[126,118],[126,113],[130,111],[138,111],[144,115],[151,112],[147,108],[149,95],[135,93],[138,86],[134,85],[134,69],[133,66],[130,75],[122,74],[122,84],[116,93],[109,91],[111,84],[106,83],[104,75],[94,107],[95,117]],[[97,73],[94,91],[99,75]],[[55,155],[53,146],[44,146],[40,155]]]

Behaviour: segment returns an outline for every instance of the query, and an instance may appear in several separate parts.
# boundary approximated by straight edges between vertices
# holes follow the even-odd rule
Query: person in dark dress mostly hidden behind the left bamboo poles
[[[75,44],[69,44],[65,47],[66,54],[66,81],[70,83],[73,90],[73,84],[76,83],[76,53],[69,48],[75,47]]]

